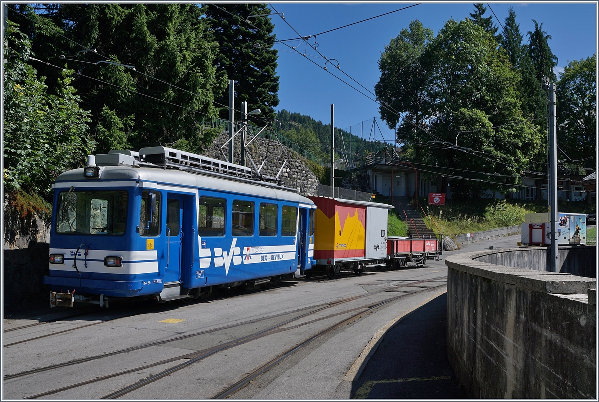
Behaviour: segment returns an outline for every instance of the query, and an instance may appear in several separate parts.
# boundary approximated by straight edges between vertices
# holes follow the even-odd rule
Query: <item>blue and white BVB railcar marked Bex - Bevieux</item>
[[[90,156],[62,173],[44,276],[52,304],[163,302],[302,275],[314,264],[316,206],[253,176],[165,147]]]

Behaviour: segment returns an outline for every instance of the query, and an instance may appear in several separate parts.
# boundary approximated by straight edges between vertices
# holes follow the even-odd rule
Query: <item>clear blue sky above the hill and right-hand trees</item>
[[[400,8],[409,7],[417,3],[386,3],[386,4],[289,4],[273,3],[279,13],[285,16],[285,22],[279,16],[271,16],[274,23],[276,38],[292,39],[298,35],[314,35],[329,31],[344,25],[349,25],[380,14]],[[487,4],[485,4],[488,7]],[[524,36],[523,41],[528,41],[527,32],[533,31],[534,23],[543,24],[542,29],[551,36],[549,46],[558,57],[558,73],[567,65],[568,61],[585,59],[596,53],[597,48],[597,5],[595,3],[491,3],[490,7],[495,12],[497,19],[493,19],[495,26],[504,25],[509,8],[516,13],[516,22]],[[391,38],[409,26],[410,21],[420,20],[422,24],[431,28],[435,35],[449,19],[462,20],[470,17],[474,11],[473,3],[461,4],[431,4],[423,3],[404,11],[389,14],[388,16],[359,23],[334,32],[324,33],[316,37],[317,50],[328,59],[336,59],[341,69],[349,75],[336,71],[337,63],[331,61],[326,66],[329,71],[335,72],[338,77],[366,93],[371,98],[374,95],[374,85],[379,80],[378,60],[386,44]],[[485,17],[492,16],[487,8]],[[291,25],[290,28],[287,24]],[[499,28],[501,31],[501,28]],[[309,39],[314,44],[314,38]],[[347,86],[333,77],[322,68],[314,65],[308,59],[320,66],[325,65],[325,60],[305,45],[303,41],[286,42],[294,46],[302,54],[283,44],[274,45],[279,50],[279,106],[277,110],[286,109],[290,112],[300,112],[310,115],[323,123],[331,122],[331,103],[335,105],[335,126],[348,129],[352,126],[352,133],[361,135],[361,122],[364,123],[364,135],[371,135],[373,117],[376,117],[384,139],[394,141],[394,131],[389,129],[380,120],[378,105],[373,100]],[[362,88],[355,81],[364,86]],[[378,129],[376,139],[380,138]]]

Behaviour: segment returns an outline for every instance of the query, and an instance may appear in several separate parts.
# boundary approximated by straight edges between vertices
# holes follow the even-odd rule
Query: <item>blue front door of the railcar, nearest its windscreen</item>
[[[168,193],[167,196],[167,266],[164,269],[165,284],[181,279],[181,252],[183,245],[183,196]]]

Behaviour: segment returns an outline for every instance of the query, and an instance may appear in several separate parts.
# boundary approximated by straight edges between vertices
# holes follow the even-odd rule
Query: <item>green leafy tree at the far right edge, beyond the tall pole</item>
[[[574,165],[595,166],[595,55],[569,62],[557,87],[558,145]]]

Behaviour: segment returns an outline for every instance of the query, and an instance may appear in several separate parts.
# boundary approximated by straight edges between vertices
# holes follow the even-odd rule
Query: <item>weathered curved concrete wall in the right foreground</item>
[[[447,355],[471,397],[595,398],[595,280],[480,261],[492,254],[445,261]]]

